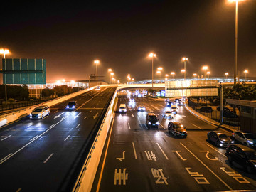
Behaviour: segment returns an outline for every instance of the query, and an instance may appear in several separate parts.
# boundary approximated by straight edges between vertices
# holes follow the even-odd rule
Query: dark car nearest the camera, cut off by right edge
[[[230,165],[235,162],[250,174],[256,171],[256,152],[254,149],[241,144],[232,144],[227,147],[225,155],[228,157]]]

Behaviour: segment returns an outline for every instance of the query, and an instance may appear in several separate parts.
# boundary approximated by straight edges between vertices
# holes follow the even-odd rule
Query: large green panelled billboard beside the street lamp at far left
[[[5,58],[3,63],[4,84],[46,84],[46,60]]]

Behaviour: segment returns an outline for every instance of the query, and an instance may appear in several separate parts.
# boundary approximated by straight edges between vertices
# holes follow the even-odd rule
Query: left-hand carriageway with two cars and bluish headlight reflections
[[[51,107],[44,119],[0,129],[0,191],[70,191],[116,87]],[[78,108],[64,110],[69,101]]]

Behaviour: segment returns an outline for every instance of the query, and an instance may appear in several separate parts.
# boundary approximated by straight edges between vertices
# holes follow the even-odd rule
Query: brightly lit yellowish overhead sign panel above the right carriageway
[[[218,96],[217,80],[166,81],[166,97]]]

